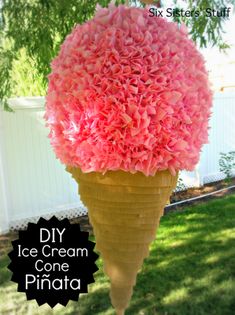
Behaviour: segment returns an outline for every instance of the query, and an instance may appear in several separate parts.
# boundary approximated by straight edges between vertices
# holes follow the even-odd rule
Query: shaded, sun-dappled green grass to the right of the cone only
[[[235,197],[162,218],[126,315],[235,314]]]

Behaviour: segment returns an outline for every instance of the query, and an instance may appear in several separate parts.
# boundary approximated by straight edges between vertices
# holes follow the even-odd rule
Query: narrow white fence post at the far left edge
[[[9,218],[7,212],[7,195],[6,195],[6,182],[5,172],[3,165],[3,111],[0,109],[0,234],[9,231]]]

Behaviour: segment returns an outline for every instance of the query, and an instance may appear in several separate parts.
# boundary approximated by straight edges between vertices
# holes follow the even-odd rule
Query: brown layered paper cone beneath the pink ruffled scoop
[[[141,172],[108,171],[102,175],[66,169],[79,183],[81,200],[88,208],[96,248],[111,282],[112,305],[117,315],[124,314],[177,176],[168,170],[146,177]]]

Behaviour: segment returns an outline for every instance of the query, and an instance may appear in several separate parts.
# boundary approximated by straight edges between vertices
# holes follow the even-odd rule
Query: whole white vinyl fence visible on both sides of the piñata
[[[77,185],[55,158],[45,127],[44,98],[10,100],[15,113],[0,108],[0,233],[22,228],[40,216],[86,214]],[[235,93],[216,94],[205,145],[194,172],[182,172],[186,186],[220,180],[220,152],[235,150]]]

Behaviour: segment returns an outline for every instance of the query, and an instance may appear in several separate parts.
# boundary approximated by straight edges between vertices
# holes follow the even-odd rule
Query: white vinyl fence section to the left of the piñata
[[[85,214],[75,181],[50,147],[44,99],[18,98],[10,104],[15,113],[0,110],[0,231],[40,216]]]

